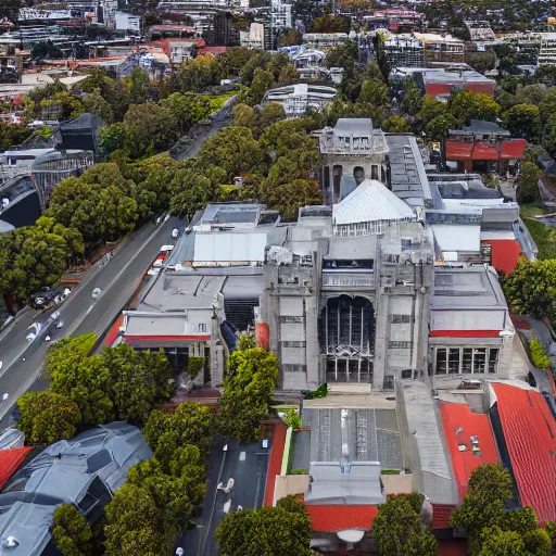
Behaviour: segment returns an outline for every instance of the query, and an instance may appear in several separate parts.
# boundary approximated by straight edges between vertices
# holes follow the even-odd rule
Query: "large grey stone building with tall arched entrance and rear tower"
[[[485,197],[496,192],[475,175],[429,181],[416,138],[368,119],[340,119],[320,148],[329,204],[295,223],[264,205],[207,205],[125,312],[124,341],[164,348],[176,372],[204,355],[214,386],[248,329],[278,355],[286,390],[527,374],[489,266],[509,243],[520,252],[514,203]]]

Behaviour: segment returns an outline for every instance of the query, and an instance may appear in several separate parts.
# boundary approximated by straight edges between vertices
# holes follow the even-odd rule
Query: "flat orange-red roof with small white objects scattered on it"
[[[471,471],[481,464],[494,464],[498,460],[496,444],[486,415],[472,413],[465,404],[439,402],[439,406],[457,491],[463,500],[467,494]],[[472,452],[470,437],[479,440],[480,452]],[[465,445],[466,450],[460,452],[460,445]]]

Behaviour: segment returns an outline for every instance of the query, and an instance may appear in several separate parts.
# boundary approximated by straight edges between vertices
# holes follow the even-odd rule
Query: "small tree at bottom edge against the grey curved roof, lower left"
[[[52,539],[62,556],[92,554],[92,531],[84,515],[72,504],[62,504],[54,510]]]

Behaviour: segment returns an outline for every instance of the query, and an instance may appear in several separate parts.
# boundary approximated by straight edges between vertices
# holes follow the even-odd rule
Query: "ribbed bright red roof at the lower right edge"
[[[492,384],[522,506],[556,519],[556,421],[540,392]]]

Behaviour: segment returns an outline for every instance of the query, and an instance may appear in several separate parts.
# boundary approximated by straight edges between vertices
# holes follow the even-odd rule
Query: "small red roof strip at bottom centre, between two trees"
[[[333,533],[344,529],[368,531],[378,514],[377,506],[339,506],[305,504],[311,527],[316,532]]]

